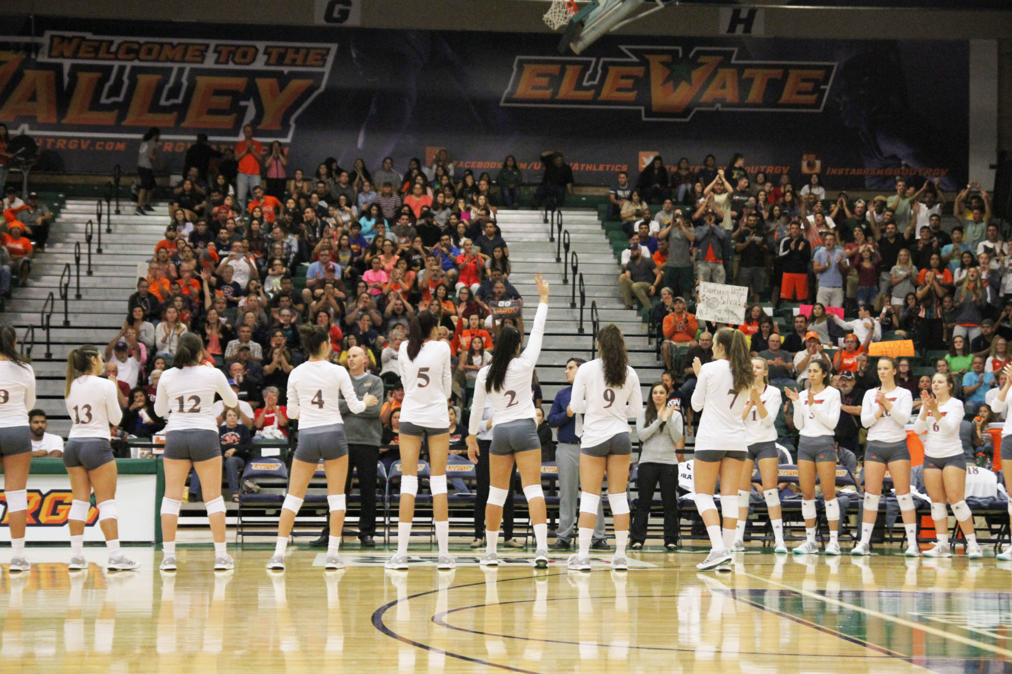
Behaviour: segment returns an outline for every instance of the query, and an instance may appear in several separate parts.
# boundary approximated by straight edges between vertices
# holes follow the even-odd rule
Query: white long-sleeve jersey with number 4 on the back
[[[347,370],[327,361],[306,361],[288,375],[286,415],[299,419],[300,428],[344,423],[337,404],[339,393],[355,414],[365,410]]]

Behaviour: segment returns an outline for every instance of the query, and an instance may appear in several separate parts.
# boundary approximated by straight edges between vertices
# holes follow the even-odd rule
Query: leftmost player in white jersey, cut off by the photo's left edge
[[[10,526],[10,571],[28,571],[24,557],[24,527],[28,517],[28,470],[31,468],[31,431],[28,410],[35,406],[35,372],[17,353],[17,336],[9,325],[0,327],[0,457],[3,458],[4,497]]]

